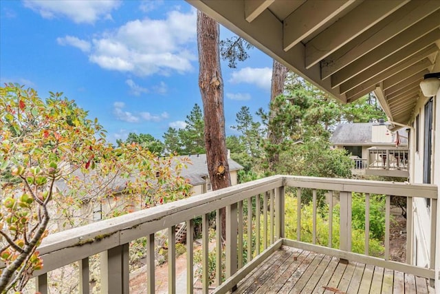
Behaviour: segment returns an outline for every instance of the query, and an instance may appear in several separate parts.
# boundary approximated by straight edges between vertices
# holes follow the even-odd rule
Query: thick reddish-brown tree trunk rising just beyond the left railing
[[[199,48],[199,87],[205,122],[205,147],[208,174],[213,190],[229,187],[228,151],[226,150],[223,80],[219,54],[219,24],[203,12],[197,12]],[[225,209],[221,209],[222,236],[225,240]]]

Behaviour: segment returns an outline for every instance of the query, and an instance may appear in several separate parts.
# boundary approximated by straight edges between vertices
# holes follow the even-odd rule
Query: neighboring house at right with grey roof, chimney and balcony
[[[408,132],[406,128],[391,132],[390,128],[383,119],[375,123],[342,123],[330,142],[334,148],[351,154],[353,174],[408,178]]]

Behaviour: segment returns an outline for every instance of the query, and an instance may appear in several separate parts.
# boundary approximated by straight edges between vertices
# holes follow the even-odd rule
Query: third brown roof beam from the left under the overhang
[[[305,45],[305,67],[316,65],[409,0],[364,1]]]

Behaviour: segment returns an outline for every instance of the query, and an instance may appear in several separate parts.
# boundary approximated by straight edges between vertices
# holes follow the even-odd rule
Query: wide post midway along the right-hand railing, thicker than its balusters
[[[339,249],[351,252],[351,193],[340,192]]]

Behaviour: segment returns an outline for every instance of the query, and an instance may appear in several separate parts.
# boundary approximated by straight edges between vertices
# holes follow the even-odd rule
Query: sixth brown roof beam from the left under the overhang
[[[410,59],[411,56],[415,55],[417,52],[426,50],[426,48],[431,48],[432,46],[434,46],[435,49],[431,48],[432,52],[430,52],[430,53],[434,53],[435,51],[438,50],[438,48],[437,45],[432,43],[434,43],[438,39],[440,39],[440,30],[436,29],[430,32],[429,34],[423,36],[417,42],[411,43],[410,45],[395,52],[395,54],[388,56],[381,63],[377,63],[376,65],[373,65],[368,70],[365,70],[361,74],[358,74],[357,76],[353,76],[353,78],[350,78],[348,81],[342,83],[340,85],[340,92],[345,93],[353,89],[357,85],[364,83],[364,81],[367,81],[371,78],[374,78],[378,74],[385,72],[389,68],[393,67],[395,64],[404,61],[406,59]],[[431,46],[428,47],[429,45]]]

